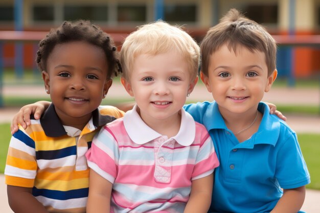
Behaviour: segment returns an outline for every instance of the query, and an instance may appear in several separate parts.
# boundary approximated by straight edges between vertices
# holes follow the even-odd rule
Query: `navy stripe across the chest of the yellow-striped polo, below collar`
[[[43,159],[43,160],[53,160],[53,159],[59,159],[62,157],[67,157],[70,155],[76,155],[77,154],[77,147],[66,147],[63,149],[58,150],[44,150],[44,151],[36,151],[36,158],[37,160]]]

